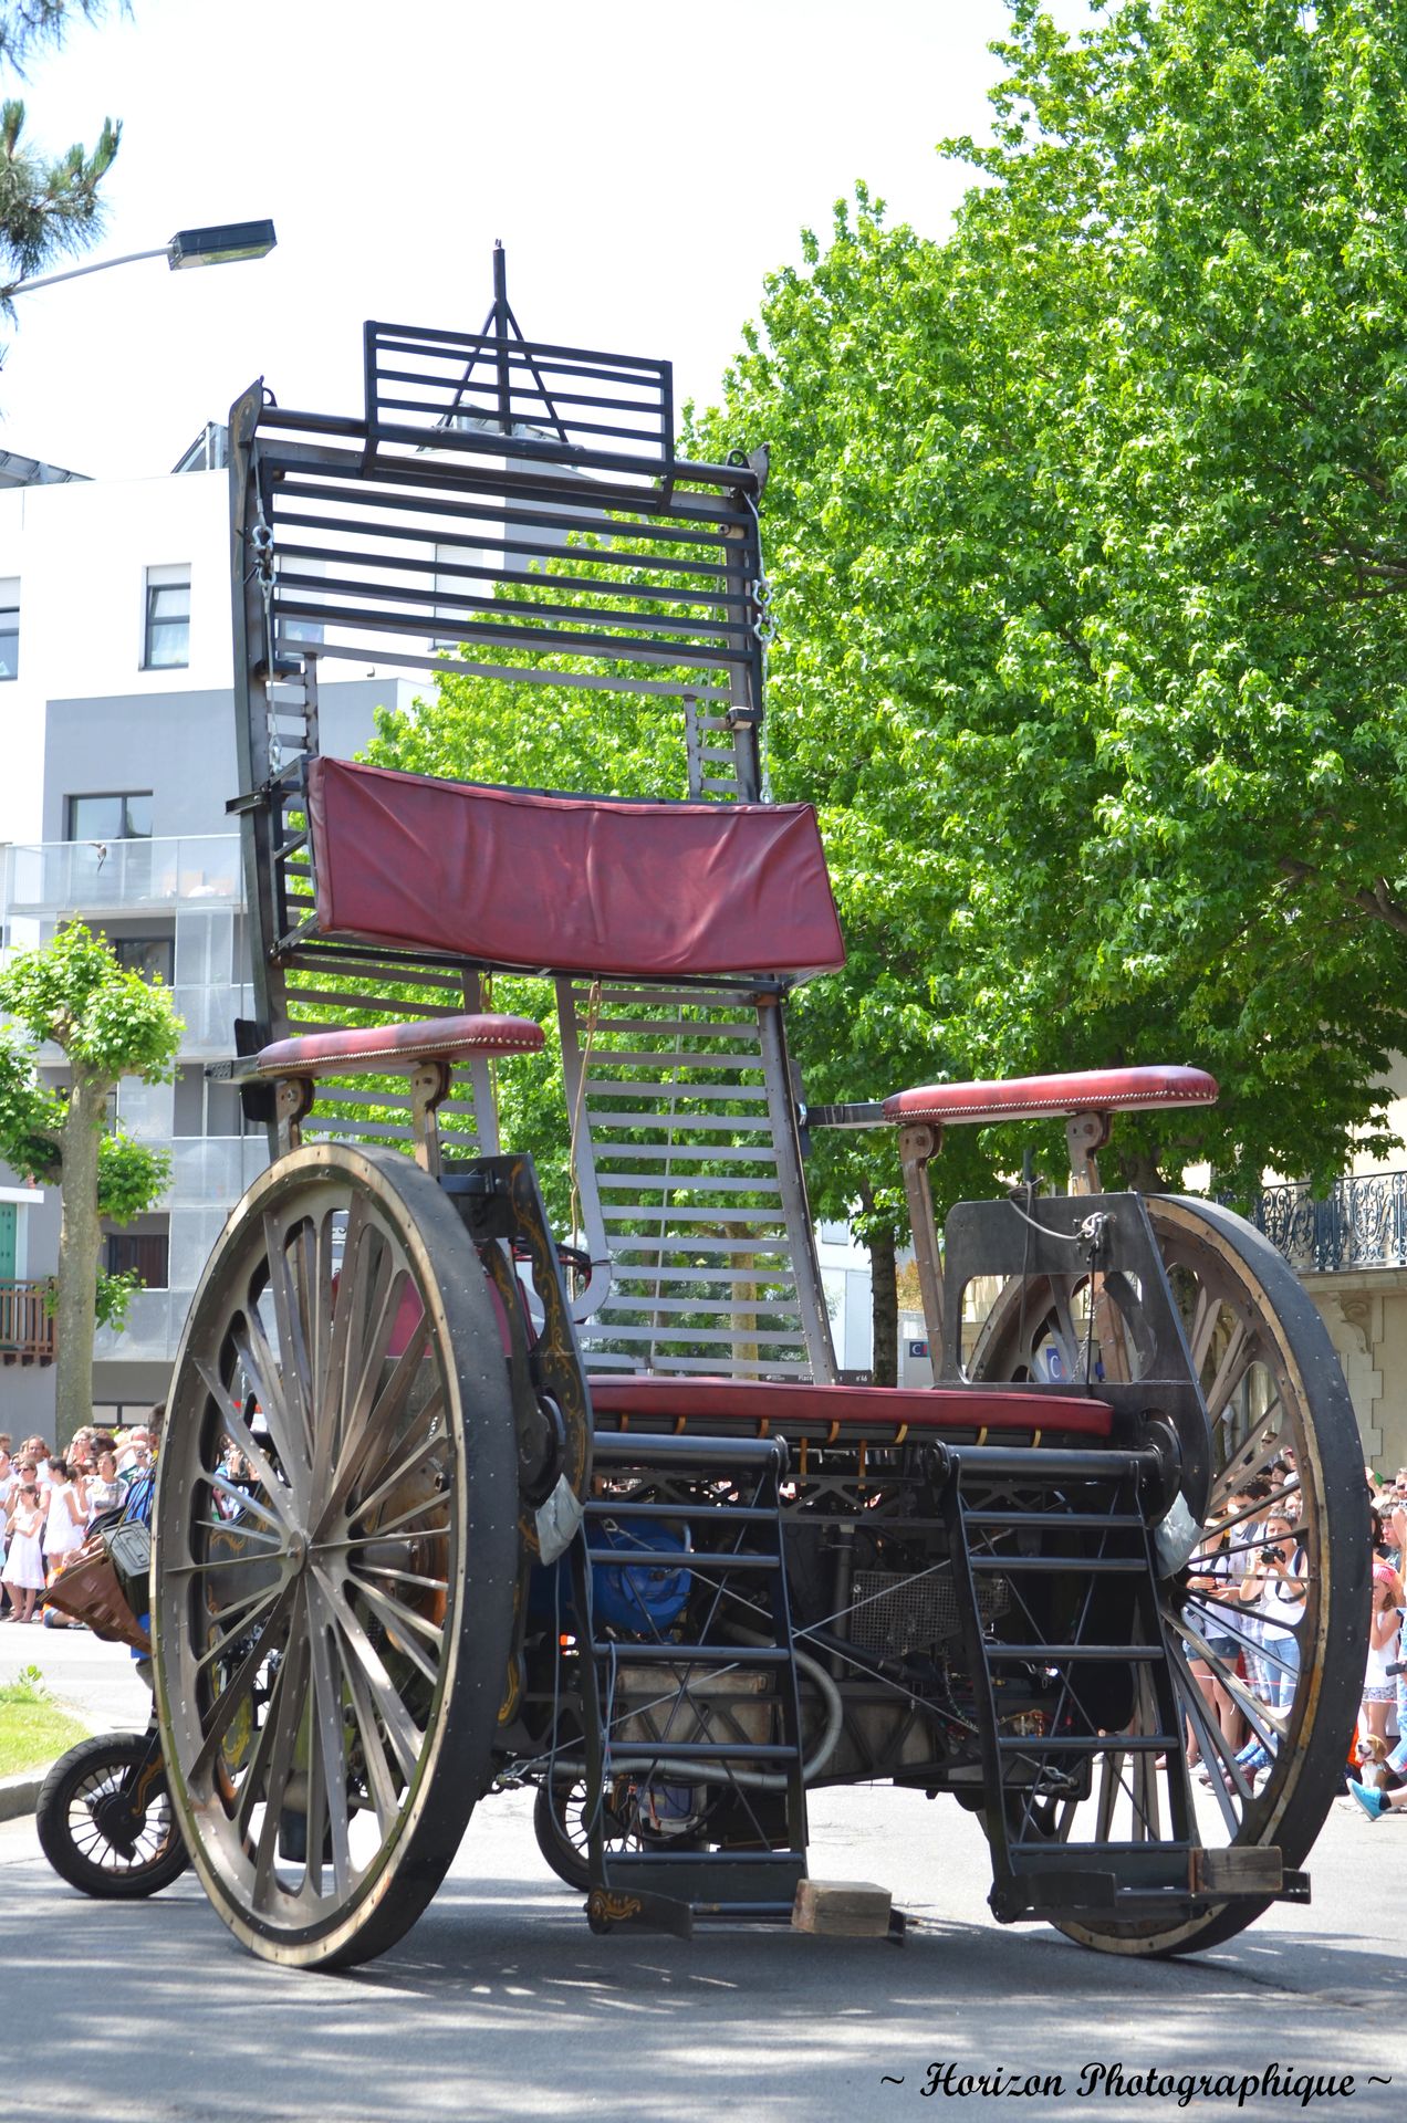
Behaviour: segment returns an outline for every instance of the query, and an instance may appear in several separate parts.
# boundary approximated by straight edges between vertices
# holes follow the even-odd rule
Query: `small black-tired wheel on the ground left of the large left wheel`
[[[132,1856],[106,1839],[94,1819],[89,1802],[119,1785],[145,1754],[147,1737],[140,1732],[98,1732],[70,1747],[38,1792],[38,1847],[60,1879],[100,1902],[136,1902],[159,1894],[191,1862],[164,1783],[147,1807]]]

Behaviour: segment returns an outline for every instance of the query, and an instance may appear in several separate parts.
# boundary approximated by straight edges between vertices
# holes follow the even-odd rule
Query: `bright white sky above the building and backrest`
[[[1061,0],[1058,17],[1084,17]],[[0,448],[168,471],[255,376],[361,410],[361,323],[474,331],[491,251],[527,338],[674,361],[716,397],[767,272],[865,178],[942,236],[1001,0],[132,0],[26,83],[36,146],[123,142],[87,259],[272,217],[259,263],[162,259],[15,297]]]

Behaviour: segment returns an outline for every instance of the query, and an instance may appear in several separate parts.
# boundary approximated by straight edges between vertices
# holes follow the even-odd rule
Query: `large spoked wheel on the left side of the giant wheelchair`
[[[240,1202],[159,1459],[172,1802],[264,1960],[353,1966],[421,1915],[491,1781],[519,1567],[504,1346],[444,1193],[317,1144]]]

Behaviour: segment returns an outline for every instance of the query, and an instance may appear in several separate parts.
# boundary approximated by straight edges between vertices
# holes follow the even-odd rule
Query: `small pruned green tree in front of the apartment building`
[[[91,1420],[94,1323],[121,1325],[132,1276],[100,1272],[102,1219],[130,1223],[157,1199],[170,1157],[106,1129],[108,1093],[123,1076],[170,1083],[181,1019],[162,981],[119,966],[81,921],[53,943],[19,951],[0,972],[0,1157],[30,1180],[60,1185],[64,1216],[55,1276],[55,1420],[72,1437]],[[36,1066],[45,1045],[68,1064],[66,1089]]]

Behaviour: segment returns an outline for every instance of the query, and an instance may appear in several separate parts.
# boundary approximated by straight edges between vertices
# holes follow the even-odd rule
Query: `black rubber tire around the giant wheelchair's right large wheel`
[[[1294,1270],[1269,1240],[1233,1210],[1180,1195],[1148,1195],[1146,1208],[1188,1329],[1205,1337],[1203,1386],[1218,1382],[1224,1342],[1214,1329],[1241,1331],[1237,1361],[1243,1380],[1258,1378],[1273,1414],[1237,1416],[1231,1395],[1214,1408],[1214,1497],[1226,1488],[1241,1454],[1269,1456],[1284,1444],[1296,1448],[1301,1478],[1303,1546],[1309,1556],[1309,1596],[1301,1630],[1301,1667],[1290,1728],[1271,1764],[1262,1792],[1241,1807],[1235,1847],[1277,1847],[1286,1868],[1305,1864],[1328,1809],[1343,1792],[1343,1762],[1354,1732],[1369,1628],[1371,1550],[1362,1495],[1362,1444],[1328,1329]],[[1201,1295],[1205,1293],[1205,1295]],[[1203,1312],[1197,1314],[1197,1306]],[[1211,1308],[1220,1316],[1211,1316]],[[1054,1316],[1054,1304],[1046,1308]],[[1065,1316],[1069,1318],[1069,1304]],[[1016,1323],[1020,1321],[1020,1337]],[[1041,1289],[1014,1282],[999,1293],[982,1327],[973,1380],[1031,1378],[1041,1346]],[[1192,1335],[1188,1333],[1192,1340]],[[1226,1365],[1226,1374],[1231,1365]],[[1069,1371],[1067,1371],[1069,1376]],[[1241,1391],[1241,1388],[1237,1388]],[[1239,1431],[1237,1431],[1239,1425]],[[1267,1425],[1267,1427],[1262,1427]],[[1271,1444],[1271,1433],[1275,1444]],[[1214,1505],[1216,1509],[1216,1505]],[[1167,1584],[1169,1639],[1177,1643],[1180,1580]],[[1224,1824],[1218,1824],[1218,1832]],[[1069,1938],[1101,1953],[1173,1955],[1222,1945],[1254,1923],[1267,1902],[1237,1900],[1209,1906],[1184,1923],[1061,1923]]]

